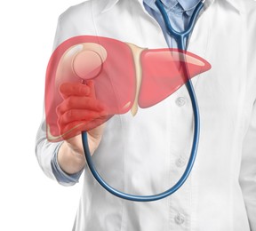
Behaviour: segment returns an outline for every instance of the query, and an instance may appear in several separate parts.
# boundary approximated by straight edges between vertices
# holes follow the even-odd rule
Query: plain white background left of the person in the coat
[[[0,4],[0,230],[72,229],[82,184],[62,187],[48,179],[36,161],[35,139],[57,20],[80,2]]]

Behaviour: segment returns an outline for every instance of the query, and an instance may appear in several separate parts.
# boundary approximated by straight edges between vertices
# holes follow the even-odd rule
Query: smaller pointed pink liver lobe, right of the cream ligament
[[[189,75],[185,75],[183,72],[184,57]],[[140,108],[156,105],[177,91],[187,82],[188,78],[197,76],[211,68],[211,65],[199,56],[191,52],[186,52],[186,55],[183,55],[177,49],[145,50],[141,53],[140,61],[142,67],[138,100]]]

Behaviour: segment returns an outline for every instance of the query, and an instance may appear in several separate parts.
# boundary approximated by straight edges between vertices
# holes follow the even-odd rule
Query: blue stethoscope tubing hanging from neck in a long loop
[[[186,53],[186,49],[187,49],[187,47],[185,45],[186,44],[185,41],[186,41],[186,39],[188,39],[188,36],[191,34],[191,32],[196,24],[196,18],[198,16],[199,12],[204,7],[203,2],[200,2],[196,5],[196,9],[193,12],[191,20],[188,23],[188,29],[186,29],[185,31],[183,31],[181,33],[177,32],[176,30],[174,30],[172,28],[170,20],[168,19],[168,15],[164,10],[164,5],[162,4],[162,2],[160,0],[156,0],[156,6],[164,18],[164,23],[165,23],[165,26],[167,28],[169,35],[172,36],[176,40],[176,42],[178,44],[178,49],[180,50],[182,55],[184,55]],[[188,77],[189,73],[188,73],[188,68],[186,66],[186,62],[182,62],[182,63],[184,63],[184,67],[183,67],[184,74],[185,74],[185,76]],[[117,197],[120,197],[120,198],[123,198],[126,200],[130,200],[130,201],[151,202],[151,201],[163,199],[164,197],[166,197],[168,195],[172,195],[184,184],[186,179],[188,179],[188,175],[190,174],[190,172],[193,168],[193,165],[195,163],[195,160],[196,160],[196,153],[197,153],[197,148],[198,148],[198,143],[199,143],[199,133],[200,133],[200,117],[199,117],[199,109],[198,109],[197,100],[196,100],[196,94],[195,94],[194,87],[193,87],[189,77],[188,77],[188,80],[186,83],[186,87],[188,89],[188,93],[189,93],[189,97],[190,97],[190,100],[192,103],[192,108],[193,108],[193,113],[194,113],[194,138],[193,138],[193,143],[192,143],[192,147],[191,147],[191,153],[190,153],[190,157],[188,159],[188,164],[187,164],[186,170],[184,171],[181,178],[177,181],[177,183],[174,186],[172,186],[170,189],[164,191],[163,193],[160,193],[157,195],[131,195],[131,194],[126,194],[124,192],[116,190],[116,188],[109,186],[108,183],[100,177],[99,172],[95,169],[95,166],[92,162],[92,156],[90,153],[90,149],[88,146],[87,132],[82,131],[84,155],[85,155],[85,159],[88,164],[88,167],[89,167],[90,171],[92,172],[93,177],[109,193],[111,193],[112,195],[116,195]]]

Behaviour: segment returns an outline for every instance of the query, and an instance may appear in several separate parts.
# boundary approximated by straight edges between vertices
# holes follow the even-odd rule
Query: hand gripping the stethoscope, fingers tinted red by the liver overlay
[[[64,142],[73,154],[84,155],[81,131],[87,131],[92,154],[100,144],[107,117],[106,108],[96,99],[92,80],[86,84],[61,84],[60,93],[64,100],[56,112],[60,133],[67,138]]]

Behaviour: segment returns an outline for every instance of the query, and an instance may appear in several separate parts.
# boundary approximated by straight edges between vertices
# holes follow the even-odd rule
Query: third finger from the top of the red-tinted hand
[[[101,111],[91,111],[91,110],[69,110],[60,116],[59,123],[62,126],[63,124],[66,125],[68,123],[72,123],[75,121],[87,121],[92,122],[98,118],[104,118],[107,115]]]

